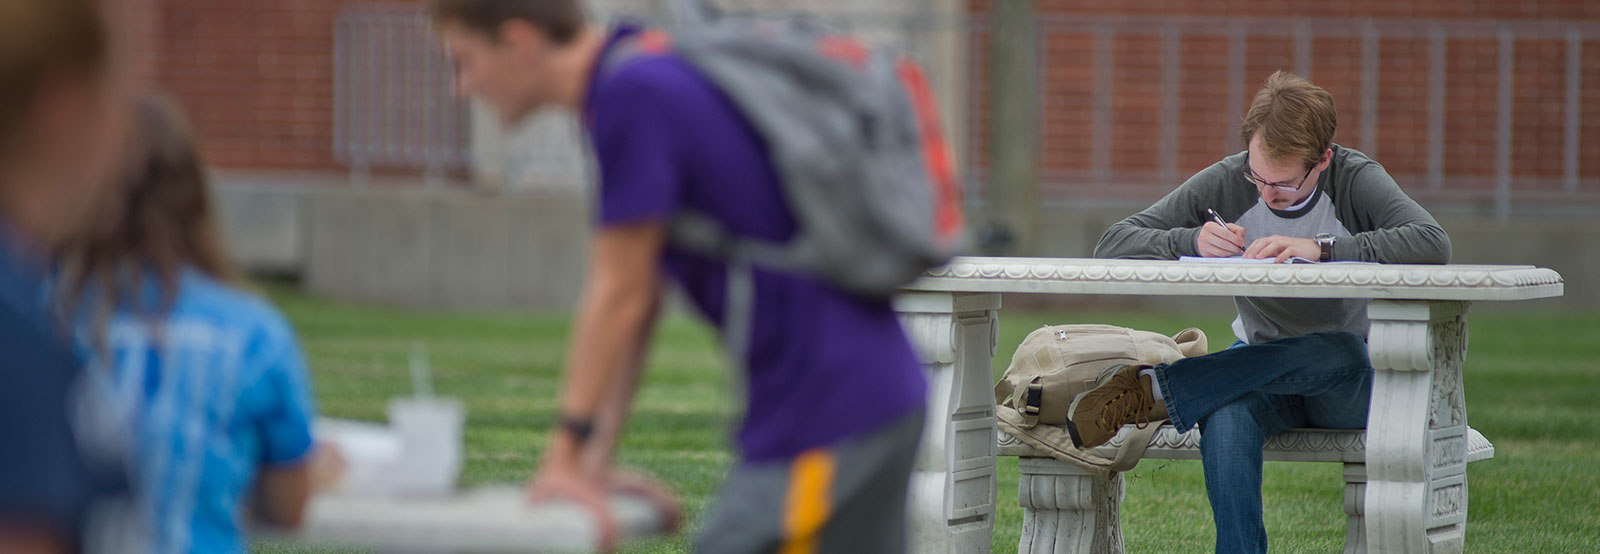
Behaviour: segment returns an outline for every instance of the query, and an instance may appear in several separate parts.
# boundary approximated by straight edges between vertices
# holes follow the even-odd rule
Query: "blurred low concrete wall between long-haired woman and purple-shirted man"
[[[582,287],[589,208],[578,194],[232,183],[218,203],[248,269],[338,299],[566,312]]]

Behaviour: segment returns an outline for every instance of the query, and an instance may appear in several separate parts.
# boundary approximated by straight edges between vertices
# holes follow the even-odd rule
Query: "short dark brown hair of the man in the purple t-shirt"
[[[579,0],[429,0],[429,11],[434,24],[456,22],[490,38],[512,19],[526,21],[557,45],[573,42],[584,27]]]

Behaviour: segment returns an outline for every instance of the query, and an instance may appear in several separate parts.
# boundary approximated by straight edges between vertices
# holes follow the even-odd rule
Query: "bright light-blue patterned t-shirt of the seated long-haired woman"
[[[155,298],[146,279],[142,301]],[[312,448],[306,362],[283,315],[184,269],[165,317],[118,309],[104,344],[109,363],[80,331],[136,437],[134,487],[157,522],[149,551],[243,552],[258,469],[299,464]]]

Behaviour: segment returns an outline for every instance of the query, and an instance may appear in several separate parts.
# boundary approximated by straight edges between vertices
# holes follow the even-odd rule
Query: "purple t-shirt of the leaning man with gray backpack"
[[[619,26],[606,51],[635,32]],[[765,146],[722,91],[670,53],[595,66],[584,118],[600,162],[600,227],[693,210],[739,235],[794,237]],[[662,267],[722,328],[726,266],[667,247]],[[755,269],[746,367],[738,444],[747,461],[832,445],[925,402],[922,368],[890,303],[798,274]]]

